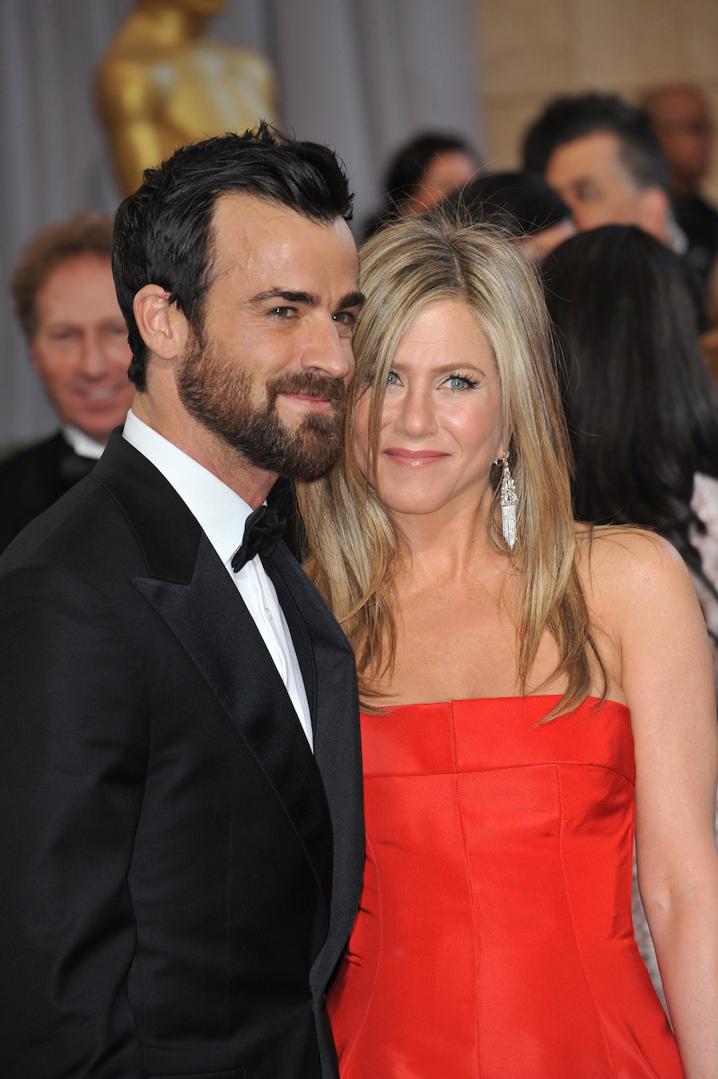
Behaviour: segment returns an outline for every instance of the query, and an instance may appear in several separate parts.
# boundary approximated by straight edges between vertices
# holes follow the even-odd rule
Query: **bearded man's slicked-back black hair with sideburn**
[[[120,206],[112,270],[133,351],[129,379],[146,387],[147,346],[133,315],[144,285],[160,285],[193,330],[202,325],[213,264],[212,216],[218,199],[248,194],[278,203],[312,221],[351,220],[351,194],[336,155],[267,124],[177,150]]]

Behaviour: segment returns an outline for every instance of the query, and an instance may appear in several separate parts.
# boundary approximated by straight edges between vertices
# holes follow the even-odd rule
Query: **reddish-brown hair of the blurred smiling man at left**
[[[32,341],[38,331],[38,292],[58,265],[82,255],[96,255],[98,259],[110,261],[110,218],[85,211],[75,214],[69,221],[43,229],[23,248],[10,281],[10,291],[15,314],[28,341]]]

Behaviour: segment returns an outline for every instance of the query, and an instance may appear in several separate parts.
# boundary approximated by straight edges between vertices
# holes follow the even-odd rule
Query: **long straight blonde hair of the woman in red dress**
[[[345,441],[336,465],[299,484],[309,560],[307,570],[344,628],[357,656],[364,705],[390,674],[397,640],[393,576],[402,537],[353,452],[357,404],[370,394],[369,445],[376,455],[387,377],[397,345],[428,303],[458,301],[475,316],[494,354],[503,429],[516,484],[520,572],[517,675],[525,689],[544,629],[553,636],[566,691],[552,715],[585,699],[597,655],[576,572],[566,425],[552,368],[543,296],[515,244],[486,226],[441,214],[405,219],[373,236],[360,254],[367,301],[357,323],[357,370],[349,391]],[[370,469],[371,470],[371,469]],[[489,541],[506,550],[498,489]],[[605,682],[605,677],[604,677]]]

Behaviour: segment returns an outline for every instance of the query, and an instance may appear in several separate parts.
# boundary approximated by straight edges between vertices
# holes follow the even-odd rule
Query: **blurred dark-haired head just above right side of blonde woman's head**
[[[561,195],[533,173],[489,173],[477,176],[444,200],[450,216],[472,224],[491,222],[514,236],[533,261],[576,232]]]

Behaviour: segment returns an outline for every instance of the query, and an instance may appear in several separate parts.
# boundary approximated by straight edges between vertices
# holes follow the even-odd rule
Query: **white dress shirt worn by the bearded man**
[[[127,441],[151,461],[175,488],[226,566],[262,634],[262,640],[287,687],[309,747],[314,750],[304,680],[275,587],[266,575],[259,555],[250,559],[238,573],[232,569],[232,557],[241,543],[251,507],[193,457],[188,456],[152,427],[148,427],[132,409],[127,413],[123,434]]]

